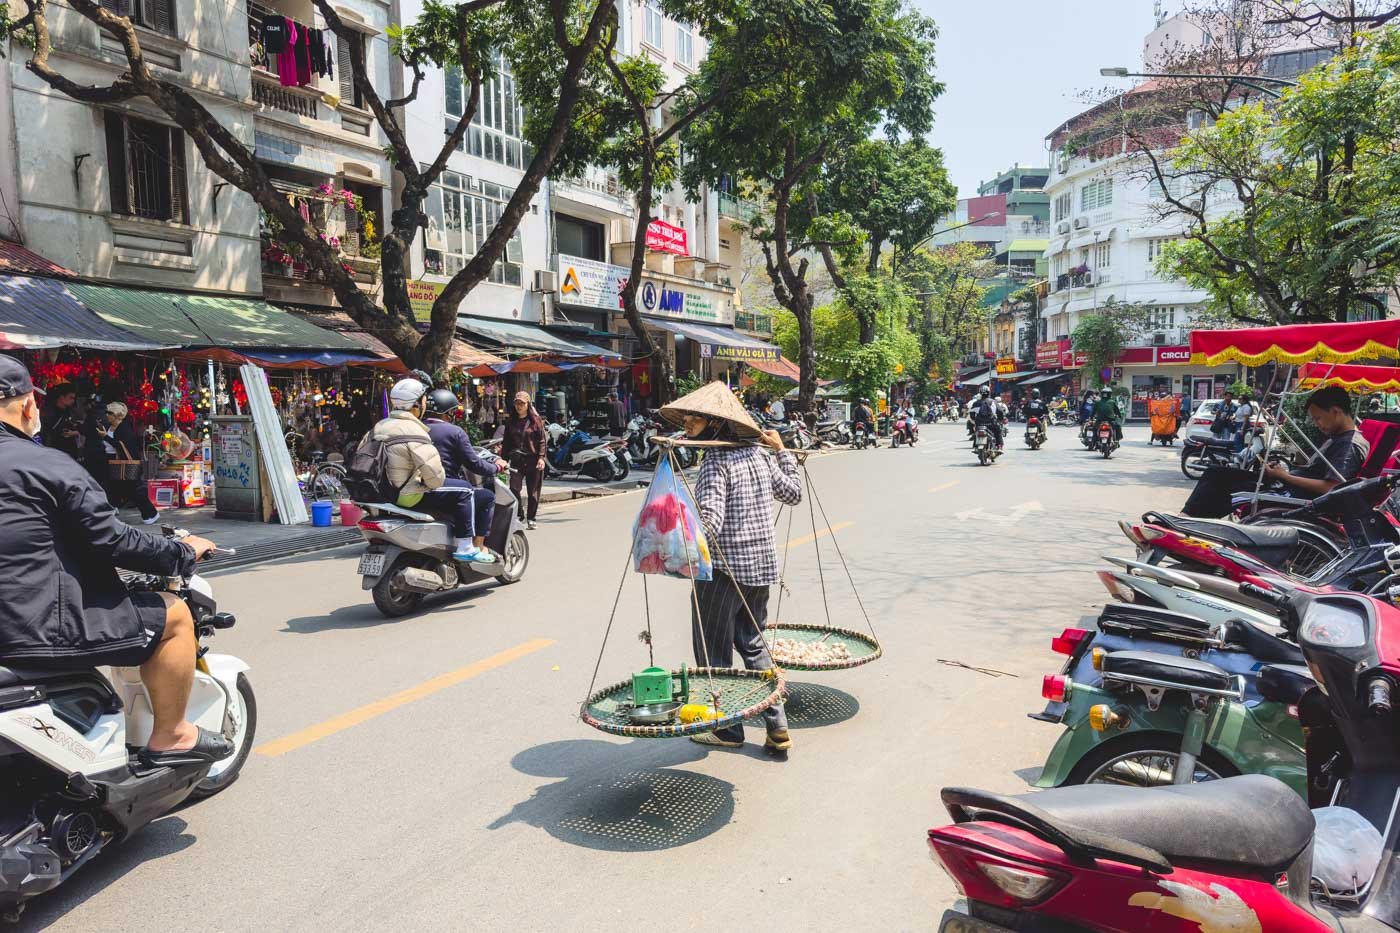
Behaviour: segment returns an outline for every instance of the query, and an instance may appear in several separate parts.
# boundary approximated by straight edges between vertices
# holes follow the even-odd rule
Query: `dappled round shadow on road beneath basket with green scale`
[[[683,740],[573,740],[526,748],[511,759],[515,770],[564,780],[536,789],[489,828],[526,822],[560,842],[608,852],[658,852],[704,839],[732,820],[734,785],[664,766],[704,754]],[[637,768],[638,756],[662,766]]]

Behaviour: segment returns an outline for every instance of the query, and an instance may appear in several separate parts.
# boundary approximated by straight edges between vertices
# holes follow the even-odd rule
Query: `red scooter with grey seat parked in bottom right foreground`
[[[1261,775],[1198,785],[1060,787],[1000,796],[946,787],[952,825],[932,857],[967,898],[945,933],[1338,933],[1400,929],[1400,609],[1359,594],[1246,584],[1298,640],[1319,688],[1298,703],[1309,803]],[[1312,807],[1338,806],[1379,834],[1350,890],[1315,878]],[[1368,831],[1369,832],[1369,831]]]

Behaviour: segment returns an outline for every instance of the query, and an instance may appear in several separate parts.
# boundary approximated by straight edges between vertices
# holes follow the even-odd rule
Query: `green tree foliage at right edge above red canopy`
[[[1400,31],[1362,36],[1282,99],[1189,134],[1159,165],[1182,179],[1166,200],[1187,233],[1158,269],[1247,322],[1385,314],[1400,275],[1397,64]],[[1238,209],[1217,216],[1219,195]]]

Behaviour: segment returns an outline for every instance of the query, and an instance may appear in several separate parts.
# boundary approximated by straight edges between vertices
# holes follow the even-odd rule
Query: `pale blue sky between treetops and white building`
[[[910,0],[938,24],[946,85],[930,140],[959,198],[1012,164],[1046,165],[1044,137],[1086,108],[1079,94],[1119,84],[1099,69],[1137,70],[1154,0]],[[1177,6],[1165,4],[1168,13]]]

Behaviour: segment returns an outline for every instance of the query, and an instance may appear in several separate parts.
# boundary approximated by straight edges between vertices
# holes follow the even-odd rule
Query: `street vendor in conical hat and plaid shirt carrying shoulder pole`
[[[661,409],[662,417],[685,427],[692,440],[735,441],[735,447],[704,451],[696,482],[696,507],[714,555],[714,579],[696,581],[692,642],[696,663],[732,667],[739,651],[750,671],[773,668],[763,628],[769,618],[769,587],[778,581],[773,539],[773,500],[802,502],[797,459],[783,448],[777,431],[760,431],[724,382],[710,382]],[[759,441],[753,444],[752,441]],[[769,447],[776,457],[770,457]],[[763,712],[770,752],[792,747],[781,703]],[[738,748],[743,726],[692,737],[703,745]]]

